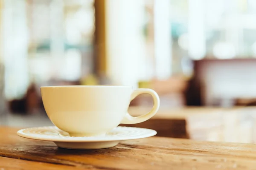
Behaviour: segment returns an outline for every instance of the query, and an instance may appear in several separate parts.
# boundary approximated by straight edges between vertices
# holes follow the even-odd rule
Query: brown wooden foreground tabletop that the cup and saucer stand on
[[[67,150],[0,127],[0,170],[253,170],[256,145],[150,137],[100,150]]]

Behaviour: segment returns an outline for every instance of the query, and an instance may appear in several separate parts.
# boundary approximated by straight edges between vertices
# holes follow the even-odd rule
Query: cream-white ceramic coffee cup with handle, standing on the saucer
[[[149,113],[133,117],[129,103],[139,94],[150,94]],[[144,122],[157,113],[160,99],[151,89],[131,86],[73,85],[41,87],[45,111],[52,123],[70,136],[100,136],[122,124]]]

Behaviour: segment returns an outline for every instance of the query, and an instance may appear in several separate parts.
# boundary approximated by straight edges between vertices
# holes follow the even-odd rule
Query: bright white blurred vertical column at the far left
[[[5,94],[7,99],[20,98],[26,93],[29,85],[26,1],[4,0],[1,12],[1,55],[5,65]]]

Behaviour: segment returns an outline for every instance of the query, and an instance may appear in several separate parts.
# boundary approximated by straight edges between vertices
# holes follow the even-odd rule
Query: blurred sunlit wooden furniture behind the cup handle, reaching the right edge
[[[129,108],[129,113],[139,116],[150,109],[133,106]],[[255,114],[256,107],[160,108],[158,113],[146,122],[122,126],[154,129],[157,136],[164,137],[256,143]]]

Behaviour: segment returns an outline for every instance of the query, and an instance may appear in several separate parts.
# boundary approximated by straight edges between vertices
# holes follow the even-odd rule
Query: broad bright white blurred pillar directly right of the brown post
[[[143,0],[106,0],[107,74],[113,84],[137,85],[145,63]]]

